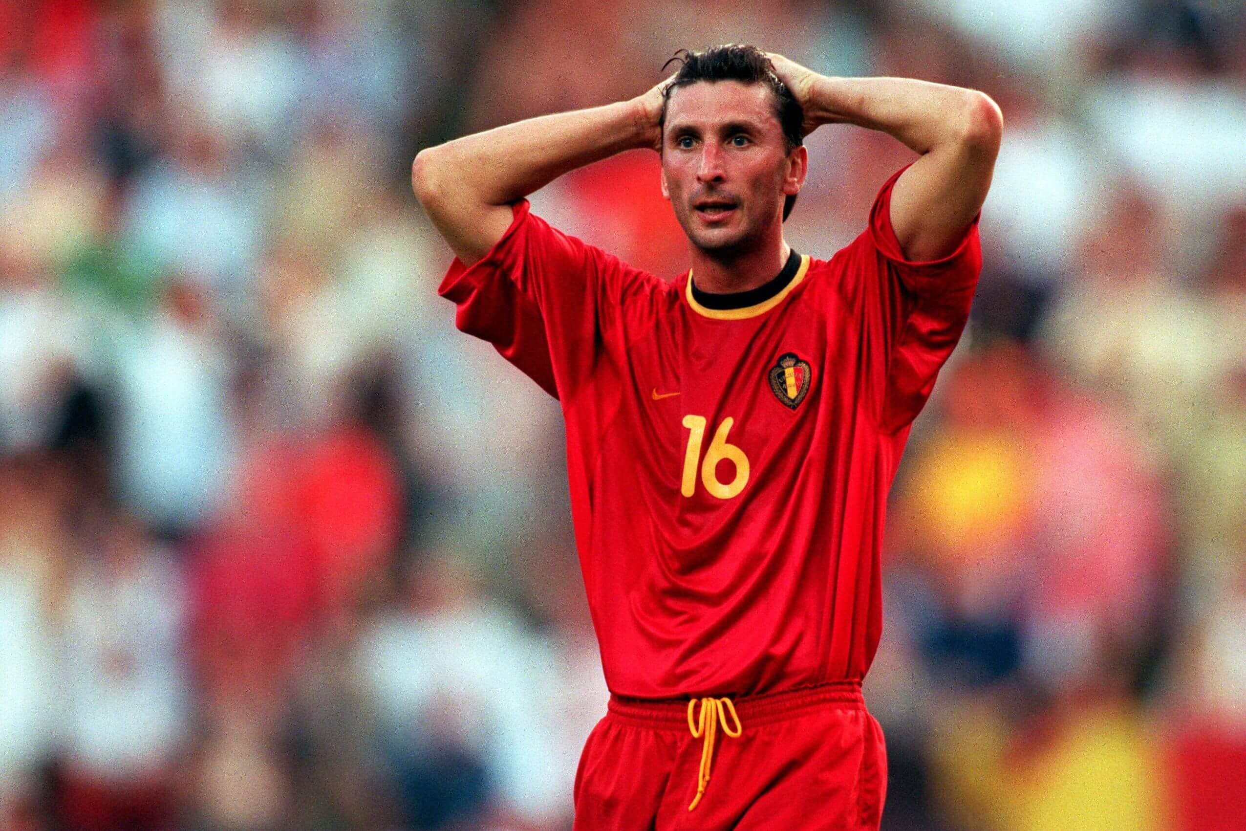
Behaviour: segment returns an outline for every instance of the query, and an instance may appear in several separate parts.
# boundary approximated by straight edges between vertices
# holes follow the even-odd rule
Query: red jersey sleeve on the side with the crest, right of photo
[[[947,257],[906,259],[891,226],[891,192],[907,167],[882,186],[855,262],[865,284],[861,314],[871,353],[880,426],[895,432],[921,412],[964,325],[982,270],[978,217]]]

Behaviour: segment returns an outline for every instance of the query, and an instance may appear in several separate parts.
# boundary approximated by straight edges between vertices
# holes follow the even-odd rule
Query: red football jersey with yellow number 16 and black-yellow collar
[[[956,346],[977,222],[906,262],[891,188],[830,260],[708,309],[515,207],[439,293],[562,402],[576,543],[611,691],[749,695],[865,677],[887,491]]]

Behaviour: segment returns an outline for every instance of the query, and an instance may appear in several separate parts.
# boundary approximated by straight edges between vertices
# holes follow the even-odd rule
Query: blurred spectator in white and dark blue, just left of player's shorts
[[[410,591],[409,609],[378,620],[359,654],[407,824],[497,812],[548,827],[571,787],[569,771],[546,764],[554,655],[454,561],[429,561]]]

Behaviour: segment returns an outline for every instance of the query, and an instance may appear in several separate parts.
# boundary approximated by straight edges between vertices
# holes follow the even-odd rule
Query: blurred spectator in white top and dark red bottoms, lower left
[[[186,593],[142,527],[97,529],[70,581],[65,814],[74,829],[163,829],[186,741]],[[93,546],[92,546],[93,547]]]

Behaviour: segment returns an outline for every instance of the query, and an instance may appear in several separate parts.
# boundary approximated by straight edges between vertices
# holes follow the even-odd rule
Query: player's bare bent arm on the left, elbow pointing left
[[[411,186],[471,265],[511,224],[511,206],[577,167],[660,143],[662,85],[629,101],[528,118],[420,151]]]

